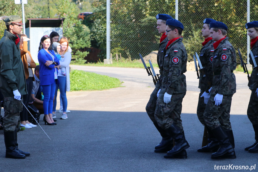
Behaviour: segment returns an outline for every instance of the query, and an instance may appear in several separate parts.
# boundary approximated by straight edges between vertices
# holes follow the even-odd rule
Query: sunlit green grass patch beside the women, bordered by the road
[[[117,78],[79,70],[71,71],[70,82],[71,91],[104,90],[121,85]]]

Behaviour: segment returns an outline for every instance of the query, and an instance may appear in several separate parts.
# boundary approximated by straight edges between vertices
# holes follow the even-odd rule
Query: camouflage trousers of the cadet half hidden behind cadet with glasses
[[[158,93],[159,88],[155,87],[155,89],[153,90],[153,92],[150,95],[149,101],[146,105],[146,112],[149,115],[149,118],[151,119],[152,122],[157,122],[155,117],[154,117],[154,113],[155,113],[155,109],[156,109],[156,105],[157,105],[157,93]]]

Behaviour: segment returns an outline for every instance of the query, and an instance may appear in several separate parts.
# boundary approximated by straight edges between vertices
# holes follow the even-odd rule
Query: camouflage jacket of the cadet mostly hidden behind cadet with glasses
[[[159,67],[160,71],[164,71],[164,69],[163,69],[163,61],[164,61],[164,55],[165,55],[165,52],[166,52],[167,42],[168,42],[168,39],[166,37],[159,44],[159,48],[158,48],[157,62],[158,62],[158,67]],[[156,83],[156,87],[159,87],[159,88],[161,87],[162,79],[163,79],[163,74],[159,76],[159,80]]]

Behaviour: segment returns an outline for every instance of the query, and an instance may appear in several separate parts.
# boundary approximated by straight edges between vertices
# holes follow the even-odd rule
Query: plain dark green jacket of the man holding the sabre
[[[4,97],[14,96],[13,91],[16,89],[21,95],[28,94],[20,43],[15,45],[16,39],[16,35],[5,30],[0,40],[0,88]]]

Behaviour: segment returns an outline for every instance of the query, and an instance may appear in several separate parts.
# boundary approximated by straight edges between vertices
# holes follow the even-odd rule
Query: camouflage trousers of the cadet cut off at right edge
[[[258,98],[255,91],[252,90],[247,108],[247,116],[253,125],[258,124]]]

